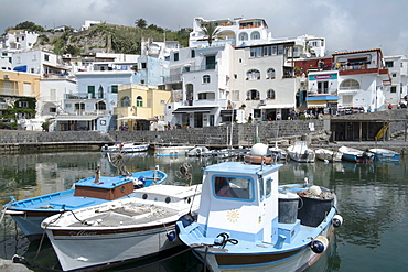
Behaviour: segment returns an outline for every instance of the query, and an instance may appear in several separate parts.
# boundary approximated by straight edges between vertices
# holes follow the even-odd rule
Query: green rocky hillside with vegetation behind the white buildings
[[[151,41],[179,41],[182,47],[189,46],[189,34],[191,29],[172,31],[162,29],[154,24],[147,25],[143,19],[136,22],[137,26],[101,23],[89,28],[86,31],[75,32],[67,28],[65,31],[44,31],[33,22],[23,22],[11,29],[25,29],[41,34],[35,48],[46,48],[56,54],[71,54],[72,56],[107,52],[124,54],[140,54],[141,39]]]

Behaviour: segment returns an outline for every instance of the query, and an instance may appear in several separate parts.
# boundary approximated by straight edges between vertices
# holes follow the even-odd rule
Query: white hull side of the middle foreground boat
[[[171,230],[174,227],[160,226],[106,235],[93,235],[92,231],[73,231],[74,235],[58,235],[58,231],[53,230],[46,232],[61,266],[64,271],[69,271],[135,261],[181,246],[180,240],[169,241],[167,238],[167,231]]]

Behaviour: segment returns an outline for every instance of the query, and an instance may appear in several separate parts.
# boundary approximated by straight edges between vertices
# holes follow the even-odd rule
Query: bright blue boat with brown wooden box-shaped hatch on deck
[[[34,241],[41,239],[41,222],[62,210],[74,210],[99,205],[135,195],[135,189],[161,184],[168,175],[159,170],[148,170],[120,176],[95,176],[76,182],[73,188],[53,194],[11,202],[3,206],[3,213],[10,215],[24,236]]]

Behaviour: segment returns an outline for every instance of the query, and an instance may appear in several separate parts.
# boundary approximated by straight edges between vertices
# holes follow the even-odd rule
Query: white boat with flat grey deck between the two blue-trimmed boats
[[[130,198],[64,210],[46,218],[41,227],[64,271],[138,261],[182,246],[175,222],[186,226],[193,221],[201,186],[144,187]]]

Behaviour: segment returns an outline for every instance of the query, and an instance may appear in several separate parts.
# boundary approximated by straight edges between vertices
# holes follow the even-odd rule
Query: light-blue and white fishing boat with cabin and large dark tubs
[[[343,219],[335,194],[279,185],[282,164],[224,162],[204,168],[197,220],[179,237],[211,271],[303,271]]]

